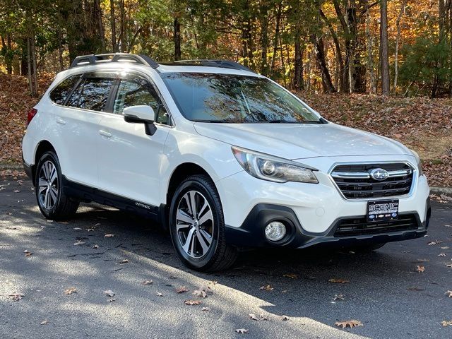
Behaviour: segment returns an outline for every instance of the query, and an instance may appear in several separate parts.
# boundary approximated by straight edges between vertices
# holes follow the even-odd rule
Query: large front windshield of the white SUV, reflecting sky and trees
[[[215,73],[162,73],[181,113],[191,121],[311,123],[321,120],[266,78]]]

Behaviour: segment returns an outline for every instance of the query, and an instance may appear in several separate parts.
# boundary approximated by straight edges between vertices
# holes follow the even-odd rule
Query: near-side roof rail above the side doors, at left
[[[140,64],[150,66],[153,69],[157,69],[159,64],[153,59],[150,59],[147,55],[143,54],[129,54],[129,53],[107,53],[107,54],[89,54],[81,55],[73,59],[71,69],[77,66],[86,66],[101,64],[104,62],[130,62],[133,64]]]

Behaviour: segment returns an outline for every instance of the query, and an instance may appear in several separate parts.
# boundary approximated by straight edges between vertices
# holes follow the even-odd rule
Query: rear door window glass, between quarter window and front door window
[[[107,104],[110,88],[113,85],[111,78],[87,78],[74,91],[68,106],[103,111]]]

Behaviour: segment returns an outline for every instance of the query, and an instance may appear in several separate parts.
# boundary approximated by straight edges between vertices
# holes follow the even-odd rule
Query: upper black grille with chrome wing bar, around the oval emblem
[[[370,172],[378,168],[385,169],[389,177],[382,181],[373,179]],[[338,165],[331,177],[345,198],[381,198],[408,194],[413,171],[404,163]]]

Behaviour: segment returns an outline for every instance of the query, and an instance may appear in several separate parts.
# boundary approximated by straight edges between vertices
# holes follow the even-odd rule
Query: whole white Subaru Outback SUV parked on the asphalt
[[[198,270],[245,247],[371,250],[429,224],[415,152],[232,61],[77,57],[28,113],[23,160],[46,218],[80,201],[147,215]]]

